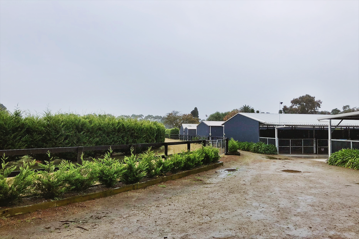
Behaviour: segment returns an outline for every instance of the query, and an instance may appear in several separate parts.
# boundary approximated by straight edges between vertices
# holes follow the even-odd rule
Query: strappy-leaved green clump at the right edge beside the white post
[[[341,149],[330,154],[329,165],[359,169],[359,149]]]

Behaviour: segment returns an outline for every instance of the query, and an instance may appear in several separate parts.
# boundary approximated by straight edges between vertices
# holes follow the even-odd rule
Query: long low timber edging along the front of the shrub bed
[[[148,186],[155,185],[155,184],[160,183],[160,182],[166,182],[166,181],[169,181],[169,180],[175,180],[175,179],[178,179],[178,178],[186,177],[186,176],[191,175],[191,174],[208,171],[210,169],[217,168],[219,166],[223,166],[223,162],[217,162],[215,164],[211,164],[211,165],[208,165],[208,166],[205,166],[205,167],[192,169],[192,170],[185,171],[185,172],[182,172],[182,173],[176,173],[174,175],[170,175],[170,176],[166,176],[166,177],[162,177],[162,178],[156,178],[154,180],[149,180],[149,181],[142,182],[142,183],[135,183],[135,184],[126,185],[126,186],[123,186],[123,187],[109,189],[109,190],[106,190],[106,191],[89,193],[89,194],[86,194],[86,195],[70,197],[68,199],[62,199],[62,200],[57,200],[57,201],[41,202],[41,203],[38,203],[38,204],[32,204],[32,205],[27,205],[27,206],[22,206],[22,207],[7,208],[7,209],[0,210],[0,217],[3,218],[3,217],[15,216],[15,215],[24,214],[24,213],[27,213],[27,212],[33,212],[33,211],[37,211],[37,210],[49,209],[51,207],[65,206],[65,205],[69,205],[69,204],[72,204],[72,203],[75,203],[75,202],[84,202],[84,201],[88,201],[88,200],[92,200],[92,199],[99,199],[101,197],[112,196],[112,195],[115,195],[115,194],[118,194],[118,193],[121,193],[121,192],[137,190],[137,189],[141,189],[141,188],[145,188],[145,187],[148,187]]]

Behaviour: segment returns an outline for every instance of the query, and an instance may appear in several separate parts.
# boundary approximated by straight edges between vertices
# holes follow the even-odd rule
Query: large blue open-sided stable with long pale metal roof
[[[348,113],[349,114],[349,113]],[[352,115],[359,114],[358,112]],[[274,144],[279,154],[328,154],[342,145],[359,148],[359,120],[332,118],[318,120],[316,114],[238,113],[223,123],[225,137],[241,142]],[[330,143],[328,129],[331,129]],[[349,148],[350,148],[349,147]]]

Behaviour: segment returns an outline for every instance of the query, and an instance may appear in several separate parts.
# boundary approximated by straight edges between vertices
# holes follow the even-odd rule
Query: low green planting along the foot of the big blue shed
[[[243,151],[250,151],[252,153],[278,154],[275,145],[265,144],[263,142],[238,142],[231,138],[228,142],[228,151],[230,153],[236,153],[238,149]]]

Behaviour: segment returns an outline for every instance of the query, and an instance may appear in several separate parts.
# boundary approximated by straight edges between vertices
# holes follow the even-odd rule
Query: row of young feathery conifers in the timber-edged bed
[[[118,180],[126,184],[138,183],[143,177],[153,178],[163,176],[167,172],[190,170],[219,159],[218,149],[211,146],[192,152],[173,154],[166,159],[154,156],[154,153],[148,149],[140,154],[139,162],[134,154],[119,162],[111,158],[111,153],[112,150],[104,158],[94,159],[93,162],[83,161],[82,165],[63,161],[58,171],[54,171],[55,166],[51,160],[45,164],[39,163],[45,168],[45,171],[40,172],[30,170],[30,166],[35,164],[35,161],[24,163],[24,166],[20,167],[20,174],[9,180],[6,177],[15,167],[6,168],[7,163],[3,158],[2,169],[0,169],[0,206],[13,204],[21,199],[22,195],[48,199],[61,197],[67,191],[83,191],[96,181],[108,187],[115,186]]]

